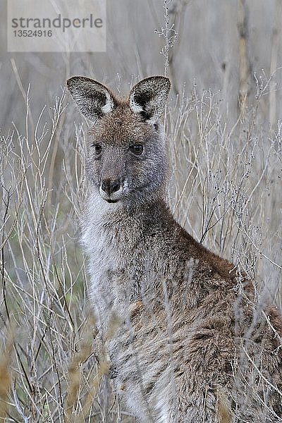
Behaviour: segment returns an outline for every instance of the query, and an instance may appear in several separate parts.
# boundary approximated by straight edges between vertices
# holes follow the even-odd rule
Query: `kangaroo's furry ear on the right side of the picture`
[[[142,114],[146,121],[155,123],[164,113],[171,82],[165,76],[152,76],[138,82],[129,94],[129,106]]]

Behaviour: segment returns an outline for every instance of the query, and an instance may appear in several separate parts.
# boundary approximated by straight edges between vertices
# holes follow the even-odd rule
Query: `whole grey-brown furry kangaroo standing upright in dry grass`
[[[282,319],[256,307],[252,281],[197,243],[166,204],[164,113],[170,82],[154,76],[120,99],[74,76],[90,121],[82,217],[89,294],[116,390],[140,422],[282,422]]]

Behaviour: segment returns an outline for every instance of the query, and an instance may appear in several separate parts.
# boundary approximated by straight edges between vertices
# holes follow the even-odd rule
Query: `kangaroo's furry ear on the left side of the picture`
[[[113,94],[97,81],[85,76],[73,76],[66,81],[66,85],[78,109],[90,121],[94,122],[114,109]]]

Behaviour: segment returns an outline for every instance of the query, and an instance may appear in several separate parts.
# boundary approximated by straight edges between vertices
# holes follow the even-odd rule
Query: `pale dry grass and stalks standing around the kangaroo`
[[[181,69],[173,49],[181,46],[173,47],[171,37],[178,32],[179,41],[184,25],[176,11],[191,3],[176,2],[172,8],[164,2],[159,35],[165,69],[173,69],[175,79]],[[176,32],[171,16],[179,24]],[[32,85],[25,89],[15,61],[12,68],[25,112],[20,128],[11,125],[0,142],[0,417],[6,415],[6,422],[133,422],[105,376],[109,363],[85,292],[87,270],[78,243],[78,217],[87,195],[85,123],[73,124],[64,92],[50,108],[32,105]],[[141,71],[147,68],[140,64]],[[241,114],[237,99],[231,106],[221,92],[202,91],[196,84],[191,90],[174,87],[166,114],[168,201],[197,240],[255,278],[259,301],[270,295],[281,307],[282,123],[274,116],[281,70],[272,71],[252,81],[255,94]],[[224,401],[219,412],[226,416]]]

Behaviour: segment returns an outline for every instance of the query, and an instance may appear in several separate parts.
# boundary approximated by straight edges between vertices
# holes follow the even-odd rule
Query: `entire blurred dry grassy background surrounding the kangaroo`
[[[0,419],[133,422],[95,357],[86,125],[62,87],[89,75],[122,94],[166,71],[176,218],[281,306],[282,2],[108,0],[97,54],[8,54],[0,8]]]

